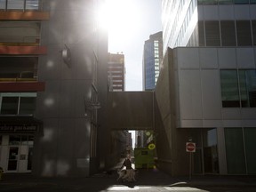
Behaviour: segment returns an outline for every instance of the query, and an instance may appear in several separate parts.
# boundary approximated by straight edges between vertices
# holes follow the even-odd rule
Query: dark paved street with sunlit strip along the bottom
[[[5,174],[0,181],[0,191],[5,192],[255,192],[256,176],[193,176],[172,178],[157,170],[139,170],[137,181],[116,181],[117,173],[99,173],[87,178],[36,178],[30,174]]]

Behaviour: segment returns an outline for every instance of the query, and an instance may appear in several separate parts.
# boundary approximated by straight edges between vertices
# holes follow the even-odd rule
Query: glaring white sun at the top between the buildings
[[[141,15],[135,0],[106,0],[100,7],[98,22],[108,29],[109,44],[120,44],[141,28]],[[128,39],[127,39],[128,38]]]

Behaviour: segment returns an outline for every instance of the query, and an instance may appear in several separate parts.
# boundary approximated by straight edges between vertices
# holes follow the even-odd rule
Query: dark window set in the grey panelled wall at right
[[[223,108],[256,107],[256,70],[220,70]]]

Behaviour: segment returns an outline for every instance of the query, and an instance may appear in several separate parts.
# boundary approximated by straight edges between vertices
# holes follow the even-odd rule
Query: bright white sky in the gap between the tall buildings
[[[162,31],[161,0],[107,0],[108,52],[124,53],[125,91],[142,91],[144,42]]]

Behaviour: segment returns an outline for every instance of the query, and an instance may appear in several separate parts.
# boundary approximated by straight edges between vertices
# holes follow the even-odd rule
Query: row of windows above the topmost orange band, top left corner
[[[40,0],[0,0],[0,10],[39,10]]]

